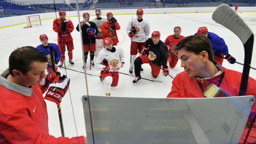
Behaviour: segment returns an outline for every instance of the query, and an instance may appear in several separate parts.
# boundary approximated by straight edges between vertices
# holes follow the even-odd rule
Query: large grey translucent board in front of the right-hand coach
[[[83,96],[87,139],[95,144],[238,143],[253,103],[253,96]]]

